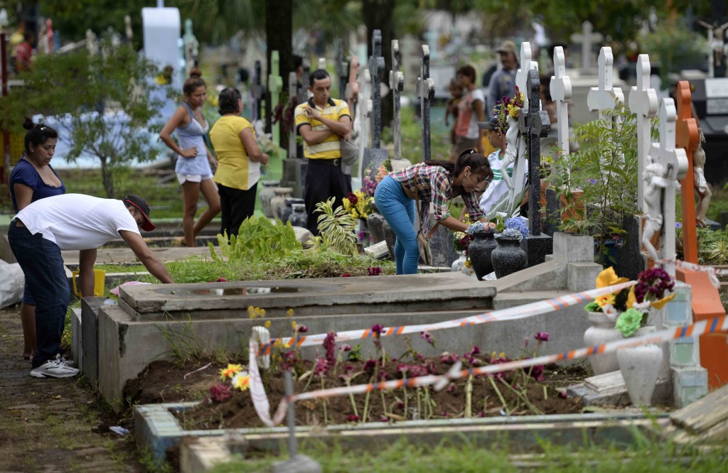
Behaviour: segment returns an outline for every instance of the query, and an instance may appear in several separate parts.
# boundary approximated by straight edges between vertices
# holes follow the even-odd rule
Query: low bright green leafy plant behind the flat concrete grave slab
[[[214,261],[220,261],[212,242],[210,255]],[[252,217],[243,220],[237,237],[218,234],[220,252],[231,262],[251,262],[259,259],[283,258],[293,250],[301,249],[296,240],[296,232],[290,222],[285,225],[278,219],[272,223],[265,217]]]

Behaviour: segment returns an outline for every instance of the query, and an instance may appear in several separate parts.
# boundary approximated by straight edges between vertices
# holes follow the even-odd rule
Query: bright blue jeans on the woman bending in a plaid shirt
[[[419,246],[414,228],[414,200],[405,194],[402,184],[391,176],[382,179],[374,191],[376,208],[397,235],[395,262],[397,274],[417,274]]]

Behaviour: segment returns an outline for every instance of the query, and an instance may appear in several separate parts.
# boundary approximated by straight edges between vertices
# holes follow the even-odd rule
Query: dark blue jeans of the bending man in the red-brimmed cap
[[[36,302],[38,350],[32,362],[35,368],[60,353],[71,289],[58,245],[44,239],[43,234],[31,235],[28,228],[17,226],[16,220],[10,222],[7,237]]]

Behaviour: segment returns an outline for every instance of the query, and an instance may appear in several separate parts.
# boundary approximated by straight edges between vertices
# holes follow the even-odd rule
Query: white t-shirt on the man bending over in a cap
[[[61,250],[91,250],[121,237],[120,230],[139,234],[124,202],[83,194],[37,200],[15,215],[31,234],[42,233]]]

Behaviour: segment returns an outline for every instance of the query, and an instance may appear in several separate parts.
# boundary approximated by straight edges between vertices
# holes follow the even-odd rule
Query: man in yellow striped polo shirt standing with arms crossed
[[[304,156],[309,159],[304,186],[306,227],[318,235],[316,204],[333,196],[333,207],[341,205],[349,189],[341,171],[341,140],[352,130],[352,116],[344,100],[331,98],[331,77],[323,69],[309,76],[313,97],[296,107],[298,135],[304,138]]]

